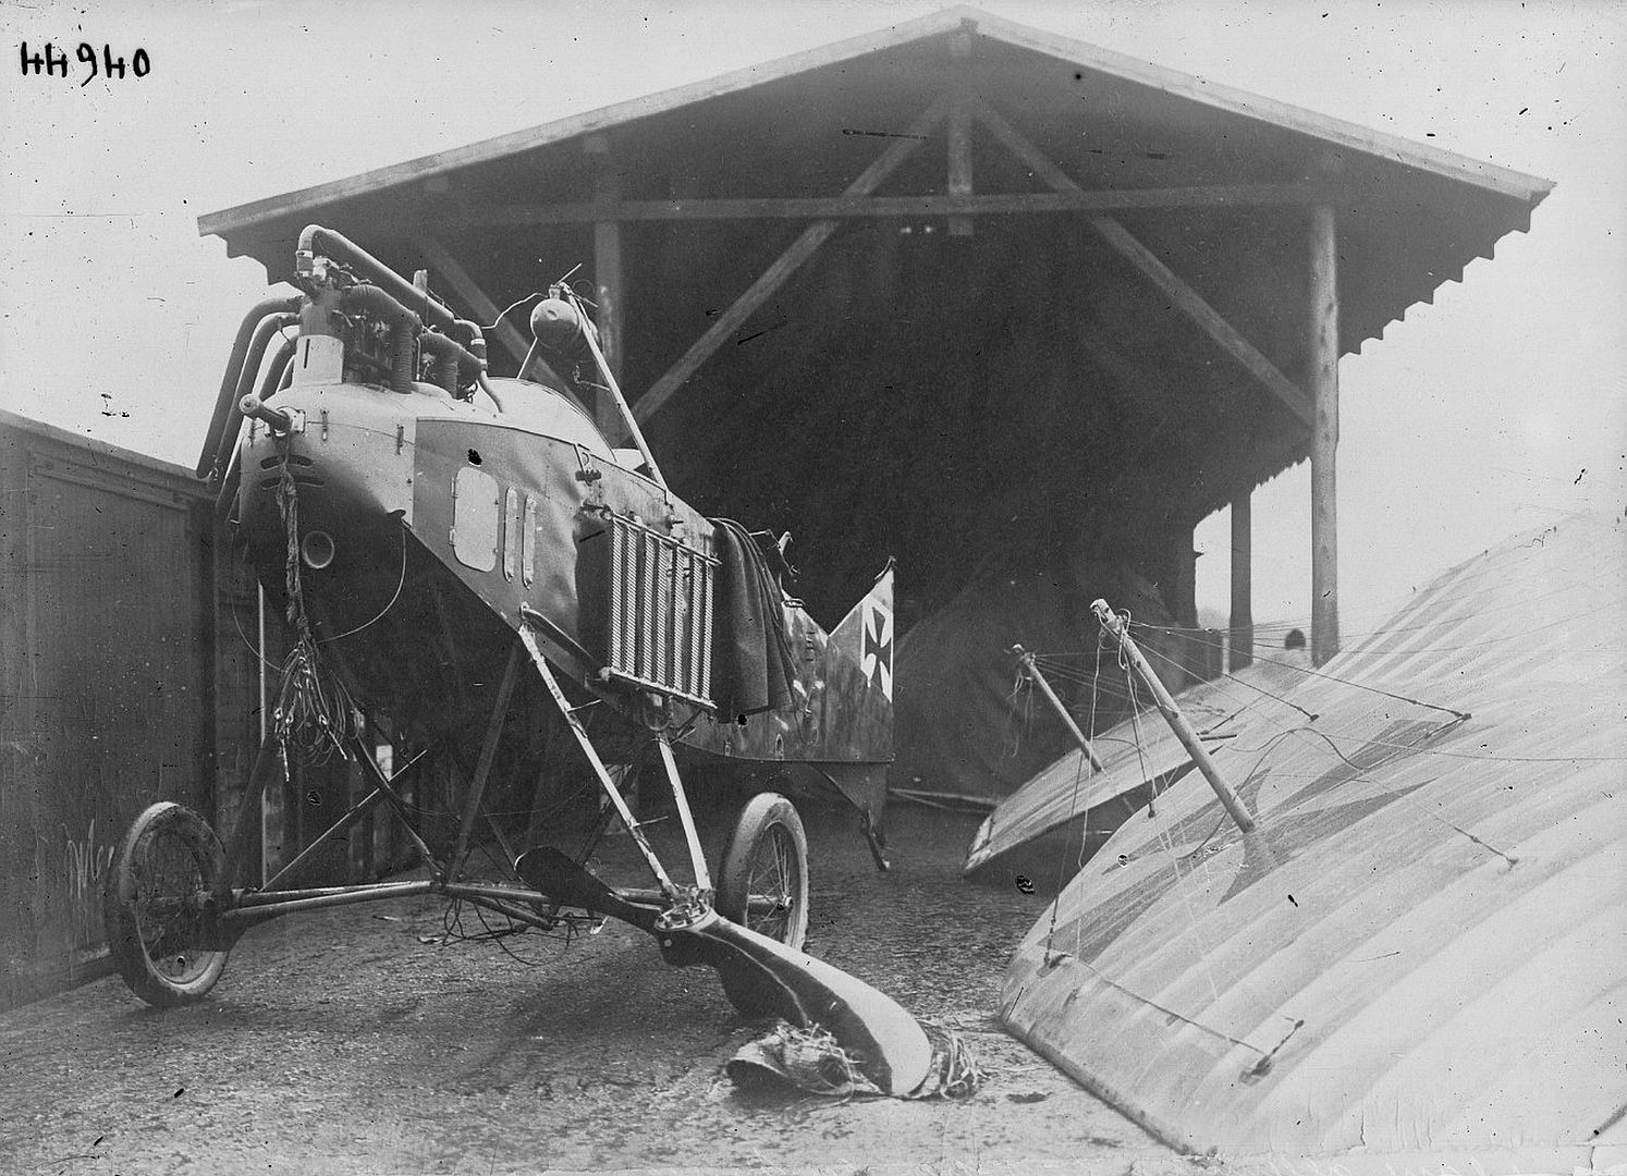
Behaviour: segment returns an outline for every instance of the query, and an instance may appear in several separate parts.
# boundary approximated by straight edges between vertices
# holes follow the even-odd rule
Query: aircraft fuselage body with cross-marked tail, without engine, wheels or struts
[[[244,434],[241,524],[275,594],[290,558],[277,491],[291,478],[306,607],[366,709],[421,737],[478,725],[480,686],[529,623],[630,735],[662,719],[651,708],[693,714],[678,743],[691,758],[818,764],[879,810],[892,683],[874,642],[890,641],[890,602],[867,597],[833,641],[784,597],[792,704],[718,714],[714,527],[641,473],[636,451],[612,449],[542,384],[491,381],[498,410],[431,384],[303,381],[299,359],[272,402],[296,428],[251,420]]]

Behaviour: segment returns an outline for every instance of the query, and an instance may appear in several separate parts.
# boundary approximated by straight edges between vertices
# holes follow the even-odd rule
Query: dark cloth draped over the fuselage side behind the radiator
[[[711,519],[718,540],[718,621],[713,628],[713,701],[737,717],[791,706],[796,662],[786,639],[779,581],[752,534]]]

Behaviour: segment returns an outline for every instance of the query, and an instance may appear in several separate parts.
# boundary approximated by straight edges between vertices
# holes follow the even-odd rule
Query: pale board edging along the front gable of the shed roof
[[[1027,24],[1015,24],[970,5],[958,5],[955,8],[945,8],[940,13],[932,13],[931,16],[893,24],[877,33],[866,33],[857,37],[848,37],[846,41],[820,46],[817,49],[805,49],[799,54],[791,54],[789,57],[748,65],[714,78],[691,81],[674,89],[664,89],[656,94],[646,94],[643,98],[617,102],[613,106],[604,106],[597,111],[587,111],[568,119],[545,122],[537,127],[527,127],[526,130],[498,135],[496,138],[486,138],[477,143],[456,146],[447,151],[438,151],[434,155],[420,156],[405,163],[390,164],[387,168],[347,176],[345,179],[329,181],[325,184],[298,189],[294,192],[285,192],[281,195],[267,197],[246,205],[236,205],[215,213],[205,213],[198,218],[198,236],[225,234],[231,229],[298,213],[301,208],[394,187],[397,184],[425,179],[428,176],[456,171],[459,168],[486,163],[490,159],[499,159],[508,155],[517,155],[519,151],[545,146],[548,143],[558,143],[578,135],[587,135],[623,122],[631,122],[635,119],[700,102],[708,98],[731,94],[740,89],[748,89],[750,86],[778,81],[779,78],[787,78],[796,73],[805,73],[825,65],[835,65],[838,62],[853,60],[854,57],[864,57],[883,49],[909,44],[911,41],[924,41],[927,37],[942,36],[960,28],[965,21],[976,23],[978,33],[983,36],[994,37],[996,41],[1002,41],[1020,49],[1030,49],[1033,52],[1056,57],[1058,60],[1064,60],[1071,65],[1080,65],[1100,73],[1124,78],[1126,81],[1178,94],[1204,106],[1271,122],[1289,130],[1313,135],[1331,143],[1339,143],[1341,146],[1362,151],[1365,155],[1391,159],[1407,168],[1430,171],[1463,184],[1490,189],[1502,195],[1523,200],[1533,207],[1539,203],[1554,187],[1552,181],[1539,176],[1528,176],[1511,168],[1414,143],[1398,135],[1386,135],[1383,132],[1362,127],[1360,124],[1344,122],[1342,119],[1316,114],[1315,111],[1279,102],[1271,98],[1261,98],[1259,94],[1250,94],[1230,86],[1214,85],[1191,73],[1181,73],[1180,70],[1152,65],[1150,62],[1144,62],[1111,49],[1100,49],[1082,41],[1045,33],[1043,29],[1035,29]]]

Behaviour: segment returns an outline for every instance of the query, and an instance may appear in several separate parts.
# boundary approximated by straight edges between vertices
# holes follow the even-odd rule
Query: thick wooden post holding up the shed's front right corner
[[[1311,213],[1311,665],[1339,652],[1339,236],[1333,208]]]

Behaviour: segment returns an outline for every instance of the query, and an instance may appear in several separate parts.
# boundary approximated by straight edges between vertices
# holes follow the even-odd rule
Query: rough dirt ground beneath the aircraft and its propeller
[[[851,817],[814,813],[809,934],[963,1034],[989,1075],[970,1100],[737,1091],[722,1062],[761,1026],[709,968],[620,924],[506,940],[527,966],[439,942],[443,903],[394,899],[249,932],[182,1010],[109,978],[0,1015],[0,1173],[1183,1168],[999,1030],[1045,899],[960,878],[973,825],[896,808],[880,875]]]

